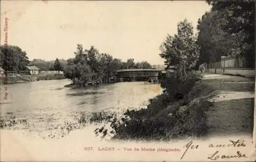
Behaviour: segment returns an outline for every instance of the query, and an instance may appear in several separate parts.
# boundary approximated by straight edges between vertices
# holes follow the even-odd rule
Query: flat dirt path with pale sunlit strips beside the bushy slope
[[[253,131],[253,79],[238,76],[208,74],[204,81],[220,93],[215,107],[206,112],[209,136],[250,135]]]

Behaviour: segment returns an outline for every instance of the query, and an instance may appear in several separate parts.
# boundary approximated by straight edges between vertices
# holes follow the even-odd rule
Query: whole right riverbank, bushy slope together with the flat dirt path
[[[150,141],[187,136],[252,135],[253,80],[226,75],[197,77],[188,76],[181,84],[178,80],[169,80],[167,94],[151,99],[145,109],[127,110],[119,118],[115,113],[95,113],[92,123],[110,124],[98,127],[96,134],[104,137],[114,132],[111,133],[113,139]],[[175,91],[179,92],[178,96]]]

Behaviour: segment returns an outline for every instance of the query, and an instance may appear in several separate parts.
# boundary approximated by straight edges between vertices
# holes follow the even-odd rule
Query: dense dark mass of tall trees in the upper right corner
[[[198,21],[200,63],[243,56],[254,67],[254,1],[206,1],[212,6]]]

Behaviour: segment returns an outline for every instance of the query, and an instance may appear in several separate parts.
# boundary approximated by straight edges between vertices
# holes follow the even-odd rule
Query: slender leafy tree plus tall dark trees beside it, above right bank
[[[167,35],[160,57],[174,66],[179,75],[198,70],[202,63],[216,62],[221,56],[244,57],[246,67],[255,67],[255,2],[206,1],[211,6],[198,20],[197,34],[186,19],[178,23],[177,34]]]

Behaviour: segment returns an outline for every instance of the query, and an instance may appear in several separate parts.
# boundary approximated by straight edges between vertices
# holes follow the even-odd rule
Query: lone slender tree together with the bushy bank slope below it
[[[203,83],[201,73],[193,71],[200,47],[191,23],[186,19],[181,21],[178,34],[168,35],[160,49],[167,68],[175,68],[172,75],[161,80],[163,94],[150,99],[147,108],[126,110],[121,117],[116,112],[93,113],[90,123],[104,124],[95,129],[96,135],[159,141],[207,133],[205,111],[214,106],[209,99],[217,93]]]

